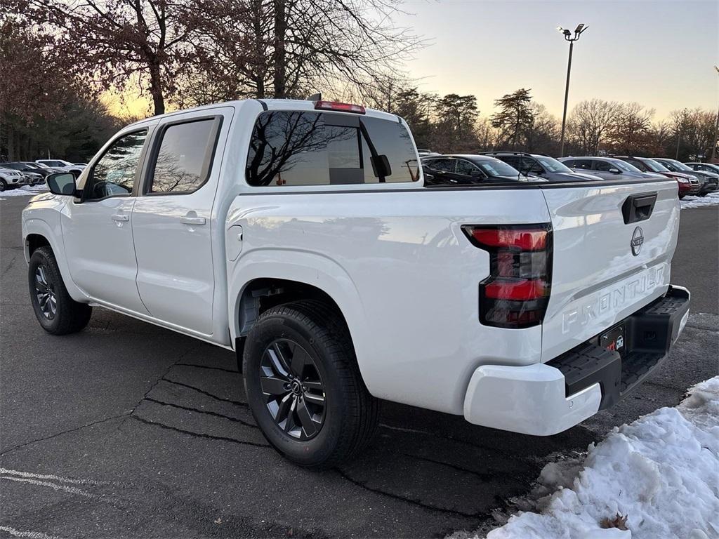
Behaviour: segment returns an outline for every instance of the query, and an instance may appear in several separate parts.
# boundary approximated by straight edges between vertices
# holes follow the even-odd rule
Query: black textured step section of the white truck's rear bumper
[[[684,328],[689,304],[686,289],[669,287],[663,298],[626,318],[624,357],[617,351],[585,343],[546,364],[564,374],[567,396],[598,382],[602,390],[600,410],[604,410],[633,390],[667,358]]]

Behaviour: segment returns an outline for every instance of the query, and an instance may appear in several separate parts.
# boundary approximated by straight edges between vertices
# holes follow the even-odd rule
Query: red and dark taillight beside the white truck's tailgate
[[[551,226],[464,226],[490,253],[490,276],[480,282],[480,321],[526,328],[541,323],[551,285]]]

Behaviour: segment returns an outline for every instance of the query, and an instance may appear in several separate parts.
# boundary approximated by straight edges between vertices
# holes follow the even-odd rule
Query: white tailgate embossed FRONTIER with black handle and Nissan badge
[[[554,230],[551,295],[542,325],[544,362],[667,291],[679,201],[677,183],[664,180],[548,186],[542,192]]]

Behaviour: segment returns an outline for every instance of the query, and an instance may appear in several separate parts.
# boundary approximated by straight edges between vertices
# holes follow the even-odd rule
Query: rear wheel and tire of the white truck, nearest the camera
[[[242,363],[257,425],[293,463],[331,468],[374,436],[377,399],[359,374],[342,315],[326,303],[297,301],[262,313]]]

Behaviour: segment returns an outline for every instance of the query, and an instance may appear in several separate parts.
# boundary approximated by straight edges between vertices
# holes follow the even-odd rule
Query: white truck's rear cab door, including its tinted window
[[[213,204],[233,111],[162,119],[132,210],[142,302],[154,318],[204,335],[213,321]]]

